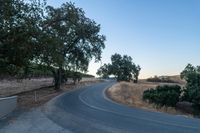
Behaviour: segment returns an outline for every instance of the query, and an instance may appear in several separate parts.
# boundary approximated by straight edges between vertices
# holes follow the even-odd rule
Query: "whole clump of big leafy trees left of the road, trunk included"
[[[51,76],[54,88],[81,80],[89,62],[101,60],[100,25],[71,2],[0,1],[0,77]]]

